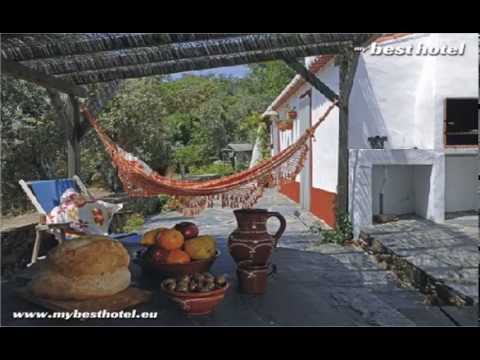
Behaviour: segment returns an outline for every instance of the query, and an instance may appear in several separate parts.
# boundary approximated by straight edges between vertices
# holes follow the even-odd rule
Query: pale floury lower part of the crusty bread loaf
[[[120,267],[113,272],[67,277],[47,270],[30,283],[33,295],[53,300],[88,300],[111,296],[130,285],[130,271]]]

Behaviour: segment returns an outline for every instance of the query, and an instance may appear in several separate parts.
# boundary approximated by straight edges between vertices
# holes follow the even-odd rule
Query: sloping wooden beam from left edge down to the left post
[[[43,72],[32,70],[25,65],[18,64],[13,61],[5,60],[2,58],[1,68],[2,72],[6,74],[10,74],[13,77],[33,82],[46,88],[56,89],[58,91],[82,98],[86,98],[88,96],[87,91],[80,86],[76,86],[67,80],[55,78]]]

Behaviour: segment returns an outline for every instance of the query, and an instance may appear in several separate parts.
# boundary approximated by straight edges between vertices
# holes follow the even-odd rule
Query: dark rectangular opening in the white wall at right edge
[[[445,145],[478,145],[478,99],[447,99]]]

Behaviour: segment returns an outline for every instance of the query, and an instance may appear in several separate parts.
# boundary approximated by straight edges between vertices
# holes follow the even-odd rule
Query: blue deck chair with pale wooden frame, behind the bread
[[[78,176],[69,179],[39,180],[39,181],[19,181],[20,186],[32,202],[35,209],[43,216],[46,216],[54,207],[60,204],[60,197],[68,188],[83,194],[88,199],[94,200],[95,197],[88,191]],[[42,240],[42,233],[50,233],[61,243],[69,240],[65,232],[76,233],[69,227],[69,224],[45,224],[43,221],[35,228],[35,243],[32,250],[32,258],[28,266],[34,264],[37,260]],[[109,237],[121,241],[125,245],[138,244],[140,235],[137,233],[109,233]]]

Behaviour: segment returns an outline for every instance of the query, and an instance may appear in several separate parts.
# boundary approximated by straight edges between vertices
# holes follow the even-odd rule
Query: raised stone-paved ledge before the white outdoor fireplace
[[[367,226],[367,237],[433,279],[478,304],[478,218],[454,216],[445,224],[418,217]]]

